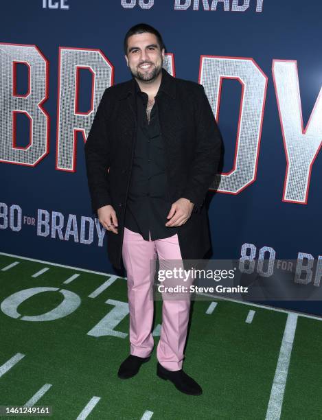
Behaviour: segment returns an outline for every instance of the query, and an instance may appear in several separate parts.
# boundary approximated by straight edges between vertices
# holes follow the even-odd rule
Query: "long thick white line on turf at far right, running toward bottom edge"
[[[288,376],[288,366],[290,365],[290,355],[297,329],[297,315],[288,314],[284,336],[281,340],[281,349],[277,361],[271,397],[268,402],[266,420],[279,420],[281,417],[281,406],[283,404],[284,390]]]

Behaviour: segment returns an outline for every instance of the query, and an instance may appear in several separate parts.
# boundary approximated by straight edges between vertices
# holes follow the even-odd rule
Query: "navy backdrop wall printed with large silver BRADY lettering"
[[[144,22],[165,69],[203,84],[222,132],[211,258],[298,261],[319,288],[321,14],[303,0],[3,1],[1,252],[122,274],[91,212],[84,142],[104,89],[130,78],[124,35]],[[312,299],[275,305],[322,314]]]

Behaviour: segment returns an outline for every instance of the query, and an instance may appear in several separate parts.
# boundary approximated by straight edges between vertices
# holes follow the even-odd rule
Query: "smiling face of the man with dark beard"
[[[162,70],[164,48],[160,50],[157,36],[144,32],[128,38],[126,63],[135,78],[153,82]]]

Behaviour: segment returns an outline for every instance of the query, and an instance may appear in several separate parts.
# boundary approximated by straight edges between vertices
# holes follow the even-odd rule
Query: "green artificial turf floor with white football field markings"
[[[19,264],[1,270],[14,261]],[[44,267],[49,270],[32,277]],[[64,283],[74,274],[79,277]],[[16,353],[24,355],[0,375],[0,406],[23,406],[50,384],[35,405],[52,406],[53,415],[33,418],[77,419],[89,401],[99,397],[87,419],[140,420],[144,413],[152,420],[266,419],[287,312],[218,300],[214,312],[207,314],[211,301],[193,302],[183,368],[203,387],[203,395],[194,397],[157,377],[159,336],[154,336],[152,358],[139,374],[119,380],[117,369],[129,352],[126,280],[116,279],[89,297],[108,278],[0,255],[0,304],[21,290],[57,288],[25,300],[16,308],[17,318],[0,310],[0,366]],[[22,319],[58,307],[64,300],[58,290],[73,292],[73,302],[80,299],[80,305],[56,320]],[[6,302],[7,310],[14,306],[13,301]],[[161,323],[161,302],[155,306],[154,327]],[[250,310],[255,315],[246,323]],[[109,335],[93,336],[93,331]],[[321,321],[299,315],[281,415],[276,419],[322,419],[321,342]]]

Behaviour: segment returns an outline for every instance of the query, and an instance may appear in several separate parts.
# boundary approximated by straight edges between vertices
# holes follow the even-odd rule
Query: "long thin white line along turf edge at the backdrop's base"
[[[34,261],[34,262],[38,262],[38,263],[42,263],[42,264],[47,264],[49,266],[55,266],[55,267],[60,267],[60,268],[70,268],[71,270],[89,272],[90,274],[96,274],[96,275],[105,276],[105,277],[106,277],[106,275],[108,275],[107,272],[87,270],[87,268],[79,268],[79,267],[73,267],[73,266],[64,266],[63,264],[52,263],[50,261],[43,261],[42,259],[21,257],[21,255],[14,255],[14,254],[1,253],[1,252],[0,252],[0,255],[5,255],[5,257],[14,257],[14,258],[25,259],[26,261]],[[126,280],[126,277],[117,276],[117,279]],[[207,293],[198,293],[198,294],[200,294],[202,296],[209,296],[211,299],[214,299],[214,295],[211,295],[211,294],[207,294]],[[209,300],[211,300],[211,299],[209,299]],[[283,310],[283,309],[280,309],[278,307],[273,307],[273,306],[268,306],[268,305],[259,305],[258,303],[243,302],[243,301],[238,301],[237,299],[229,299],[229,298],[226,298],[226,297],[224,298],[222,296],[216,296],[216,299],[221,300],[221,301],[241,303],[242,305],[262,307],[262,309],[271,310],[271,311],[275,311],[275,312],[284,312],[284,314],[296,314],[298,316],[303,316],[304,318],[311,318],[311,319],[316,319],[316,320],[320,320],[320,321],[322,320],[322,316],[310,315],[310,314],[306,314],[305,312],[295,312],[295,311],[290,311],[290,310]]]

